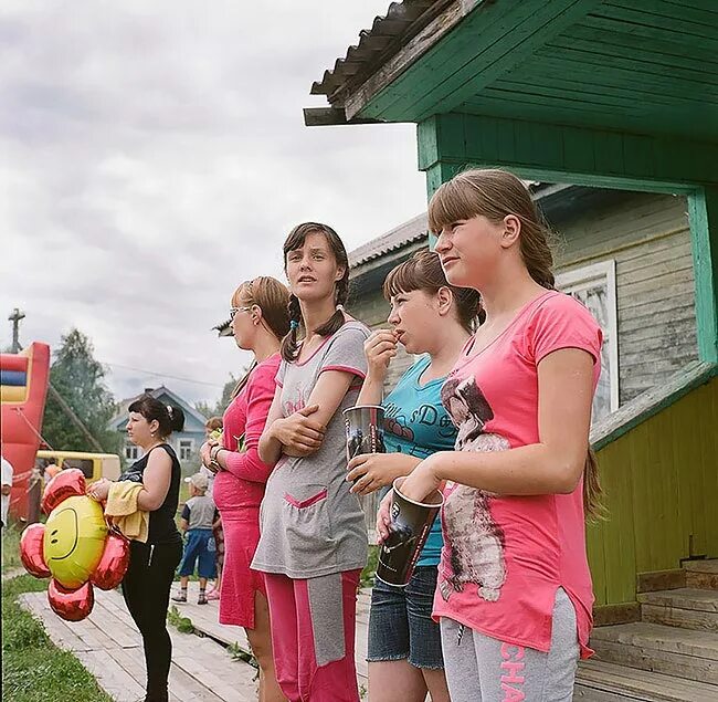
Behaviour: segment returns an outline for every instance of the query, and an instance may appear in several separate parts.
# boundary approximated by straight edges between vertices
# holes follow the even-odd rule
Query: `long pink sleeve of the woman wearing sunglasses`
[[[244,451],[230,451],[224,460],[226,470],[242,480],[265,483],[273,465],[262,462],[257,451],[260,437],[264,431],[270,406],[274,399],[276,367],[258,367],[250,378],[247,394],[246,423],[244,426]]]

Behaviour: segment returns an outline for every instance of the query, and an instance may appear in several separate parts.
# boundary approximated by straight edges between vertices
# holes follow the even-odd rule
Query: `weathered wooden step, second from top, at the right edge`
[[[680,587],[642,593],[638,601],[643,621],[718,635],[718,590]]]

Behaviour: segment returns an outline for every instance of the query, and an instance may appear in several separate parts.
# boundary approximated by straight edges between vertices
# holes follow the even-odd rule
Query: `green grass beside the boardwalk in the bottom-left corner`
[[[3,567],[4,557],[3,547]],[[82,663],[59,649],[42,625],[20,607],[19,595],[46,587],[46,580],[31,575],[2,584],[2,701],[112,702]]]

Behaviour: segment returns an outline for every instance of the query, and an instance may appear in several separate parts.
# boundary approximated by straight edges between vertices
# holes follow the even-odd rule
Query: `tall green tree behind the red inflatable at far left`
[[[105,369],[93,354],[89,338],[72,329],[62,337],[60,348],[53,354],[50,383],[103,449],[108,453],[119,453],[123,437],[107,427],[117,406],[105,385]],[[45,404],[42,434],[55,450],[94,450],[51,394]]]

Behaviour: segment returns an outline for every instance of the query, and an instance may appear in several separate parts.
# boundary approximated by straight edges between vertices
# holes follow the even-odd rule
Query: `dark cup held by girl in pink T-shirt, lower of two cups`
[[[377,577],[395,587],[404,587],[411,579],[419,554],[444,503],[439,490],[424,497],[424,502],[409,500],[400,491],[404,480],[394,480],[389,536],[381,544],[377,565]]]

